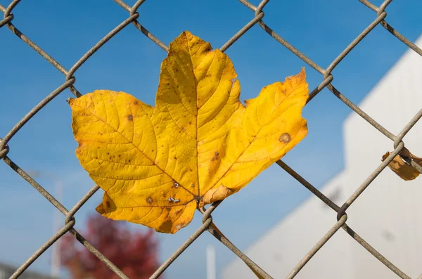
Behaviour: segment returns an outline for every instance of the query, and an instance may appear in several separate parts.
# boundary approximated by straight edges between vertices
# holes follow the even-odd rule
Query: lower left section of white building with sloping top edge
[[[324,194],[335,200],[344,200],[342,190],[347,175],[343,172],[332,179],[325,187]],[[272,228],[245,252],[273,278],[285,278],[335,224],[335,212],[316,198],[309,198],[289,214],[281,223]],[[343,231],[333,238],[300,271],[297,278],[353,278],[350,277],[350,249],[352,242]],[[338,260],[341,259],[341,260]],[[321,268],[321,262],[326,268]],[[318,277],[315,275],[318,274]],[[344,274],[344,275],[343,275]],[[236,259],[224,270],[223,278],[256,278],[256,276]]]

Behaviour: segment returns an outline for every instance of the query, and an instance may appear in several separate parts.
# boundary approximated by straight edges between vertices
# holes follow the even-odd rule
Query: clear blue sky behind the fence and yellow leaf
[[[373,1],[379,5],[382,1]],[[10,1],[0,0],[7,6]],[[258,4],[259,1],[252,1]],[[321,67],[331,61],[376,17],[359,1],[271,1],[264,20],[275,32]],[[134,1],[127,1],[132,5]],[[387,20],[404,36],[421,34],[422,1],[393,1]],[[23,1],[13,11],[13,24],[61,63],[70,67],[128,14],[111,0]],[[252,19],[238,1],[146,1],[139,21],[165,44],[189,30],[219,48]],[[414,22],[418,22],[415,24]],[[34,105],[65,80],[63,74],[18,39],[0,29],[0,136],[3,137]],[[383,27],[376,27],[333,71],[333,84],[359,103],[407,47]],[[307,70],[309,89],[321,81],[317,73],[255,26],[226,53],[241,82],[241,99],[254,98],[260,89],[286,76]],[[125,91],[153,105],[160,63],[166,53],[133,25],[111,39],[75,74],[82,93],[95,89]],[[53,174],[64,184],[63,204],[70,209],[94,186],[75,157],[77,143],[70,127],[66,90],[55,98],[10,141],[8,154],[27,171],[38,170],[37,181],[53,191]],[[343,168],[342,122],[350,109],[327,89],[303,111],[309,134],[283,158],[314,186],[321,187]],[[382,124],[382,123],[381,123]],[[19,265],[52,235],[53,206],[6,164],[0,164],[0,261]],[[278,166],[265,170],[241,192],[229,197],[213,214],[220,230],[240,249],[247,248],[283,216],[309,197],[309,192]],[[83,231],[87,214],[95,212],[101,190],[77,213]],[[190,226],[175,235],[158,234],[160,258],[165,260],[200,226],[197,214]],[[132,226],[143,230],[141,226]],[[205,233],[165,272],[165,278],[205,278],[205,247],[215,245],[217,274],[234,259],[229,249]],[[49,250],[50,252],[50,250]],[[31,268],[49,272],[50,254]],[[259,259],[257,259],[259,263]]]

